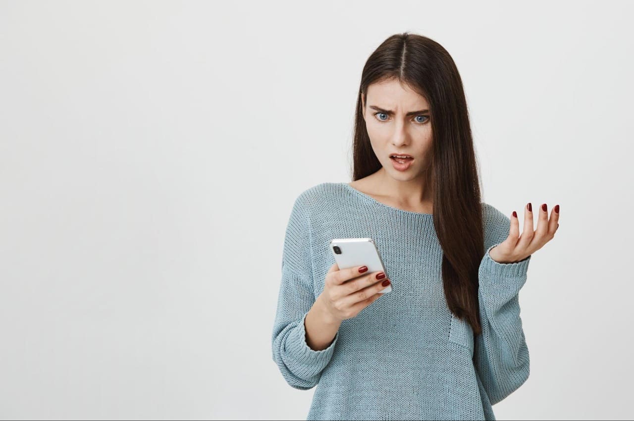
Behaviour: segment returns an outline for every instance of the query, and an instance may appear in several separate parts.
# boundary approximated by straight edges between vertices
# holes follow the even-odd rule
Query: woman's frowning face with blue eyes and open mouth
[[[361,97],[363,119],[372,149],[385,172],[401,181],[424,177],[432,157],[427,100],[398,81],[371,84],[365,99]],[[390,158],[394,153],[411,155],[413,160],[399,164]]]

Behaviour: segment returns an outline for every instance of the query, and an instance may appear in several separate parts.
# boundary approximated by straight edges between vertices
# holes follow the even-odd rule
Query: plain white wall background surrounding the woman
[[[366,59],[458,66],[484,201],[560,204],[522,420],[633,393],[631,2],[0,3],[0,417],[305,419],[271,358],[292,204],[351,181]]]

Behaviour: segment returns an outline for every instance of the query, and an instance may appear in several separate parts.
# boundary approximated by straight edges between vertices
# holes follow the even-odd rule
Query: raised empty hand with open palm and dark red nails
[[[515,210],[510,220],[511,226],[507,239],[489,250],[491,259],[498,263],[514,263],[524,260],[552,240],[555,231],[559,228],[559,205],[556,205],[550,212],[550,219],[548,219],[546,204],[540,206],[536,231],[533,231],[533,212],[530,203],[524,207],[524,232],[522,235],[519,235],[519,220]]]

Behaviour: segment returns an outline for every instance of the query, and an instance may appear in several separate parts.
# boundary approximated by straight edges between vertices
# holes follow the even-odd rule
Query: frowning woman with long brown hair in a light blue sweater
[[[520,235],[479,184],[451,56],[389,37],[363,68],[354,181],[303,191],[288,221],[273,360],[292,387],[317,385],[307,419],[495,420],[526,381],[518,294],[559,205],[528,203]],[[346,237],[373,238],[391,279],[333,264]]]

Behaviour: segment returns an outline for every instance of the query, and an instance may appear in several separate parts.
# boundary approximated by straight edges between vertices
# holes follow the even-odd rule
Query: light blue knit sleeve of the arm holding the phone
[[[303,195],[293,205],[286,230],[281,284],[273,325],[273,361],[295,389],[313,388],[332,358],[339,332],[326,349],[315,351],[306,343],[306,314],[314,304],[311,268],[311,230]]]

